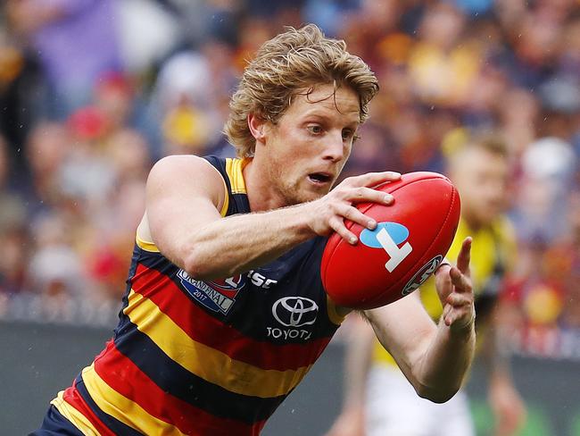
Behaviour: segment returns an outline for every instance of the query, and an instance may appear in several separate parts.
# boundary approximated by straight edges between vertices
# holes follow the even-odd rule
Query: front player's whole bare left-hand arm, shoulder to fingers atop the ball
[[[319,200],[281,209],[222,218],[225,193],[220,174],[195,156],[170,156],[147,180],[146,224],[164,256],[199,279],[229,277],[267,263],[316,235],[354,235],[344,218],[376,226],[354,202],[390,204],[392,197],[368,188],[397,180],[392,172],[344,180]]]

